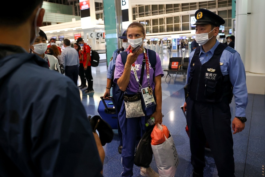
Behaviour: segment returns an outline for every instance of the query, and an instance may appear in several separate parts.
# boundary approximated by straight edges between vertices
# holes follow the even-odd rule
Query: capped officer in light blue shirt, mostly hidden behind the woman
[[[114,69],[115,69],[117,55],[129,47],[129,43],[127,42],[126,30],[123,32],[122,36],[120,36],[119,38],[122,39],[122,47],[120,49],[116,49],[113,52],[112,57],[109,61],[109,67],[107,70],[107,86],[106,86],[106,91],[103,96],[104,98],[107,98],[108,96],[110,96],[110,89],[112,87],[112,95],[113,95],[113,99],[116,105],[117,113],[120,112],[121,110],[121,104],[123,101],[123,97],[122,97],[123,92],[120,90],[119,86],[113,82],[113,76],[114,76]],[[121,133],[119,120],[118,120],[118,134],[119,134],[119,140],[120,140],[120,143],[118,146],[118,152],[121,154],[122,133]]]

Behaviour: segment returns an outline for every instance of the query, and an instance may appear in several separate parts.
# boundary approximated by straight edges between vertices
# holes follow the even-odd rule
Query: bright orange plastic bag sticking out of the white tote
[[[168,127],[157,123],[151,133],[151,138],[152,138],[151,144],[158,145],[164,143],[166,140],[165,136],[168,139],[169,137]]]

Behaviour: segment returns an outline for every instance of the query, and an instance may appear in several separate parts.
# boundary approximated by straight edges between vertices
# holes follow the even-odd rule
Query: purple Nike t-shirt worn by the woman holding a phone
[[[129,51],[127,51],[127,53],[129,54]],[[148,56],[148,51],[147,51],[147,56]],[[134,62],[139,81],[140,81],[140,77],[141,77],[141,69],[142,69],[143,59],[144,59],[144,53],[141,53],[141,54],[139,54],[138,58]],[[155,74],[154,74],[153,68],[151,67],[149,56],[148,56],[148,61],[149,61],[149,73],[150,73],[149,82],[150,82],[150,85],[151,85],[152,89],[154,90],[155,89],[155,84],[153,82],[153,76],[156,77],[158,75],[161,75],[161,77],[163,77],[164,73],[163,73],[163,69],[162,69],[162,66],[161,66],[161,61],[160,61],[159,54],[156,53],[156,70],[155,70]],[[116,58],[116,67],[115,67],[115,71],[114,71],[114,82],[115,83],[117,83],[117,80],[118,80],[118,78],[121,77],[123,71],[124,71],[124,65],[123,65],[123,63],[121,61],[121,54],[119,54],[117,56],[117,58]],[[145,64],[142,88],[147,87],[147,86],[148,86],[148,82],[147,82],[146,64]],[[129,91],[132,91],[132,92],[135,92],[135,93],[139,90],[139,84],[137,83],[137,81],[135,79],[132,66],[131,66],[130,81],[129,81],[129,84],[128,84],[126,90],[129,90]]]

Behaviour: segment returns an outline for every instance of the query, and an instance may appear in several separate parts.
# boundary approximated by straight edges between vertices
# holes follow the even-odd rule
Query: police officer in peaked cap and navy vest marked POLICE
[[[215,13],[199,9],[195,13],[196,41],[201,45],[190,53],[184,87],[187,124],[190,133],[193,177],[203,177],[204,147],[209,143],[218,176],[234,177],[233,138],[229,104],[235,95],[233,134],[246,122],[246,74],[239,53],[220,43],[216,36],[225,21]]]

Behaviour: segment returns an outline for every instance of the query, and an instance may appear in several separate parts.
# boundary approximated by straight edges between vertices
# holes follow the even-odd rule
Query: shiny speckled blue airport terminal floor
[[[164,49],[164,54],[160,54],[163,69],[168,68],[170,57],[188,57],[189,50],[185,52],[176,51],[169,53]],[[85,94],[80,90],[82,103],[86,109],[87,115],[99,115],[97,108],[100,102],[100,96],[105,93],[106,87],[106,62],[102,62],[98,67],[92,67],[93,89],[95,93]],[[173,75],[166,77],[164,72],[162,77],[162,112],[164,113],[163,124],[168,127],[179,155],[179,165],[175,177],[190,177],[192,174],[192,165],[190,163],[191,153],[189,147],[189,138],[185,131],[186,119],[180,106],[184,103],[185,85],[184,75]],[[80,79],[78,80],[80,85]],[[111,92],[112,93],[112,92]],[[248,94],[248,105],[246,111],[245,129],[233,135],[234,140],[234,158],[235,158],[235,176],[236,177],[258,177],[265,175],[265,95]],[[232,118],[235,116],[234,99],[230,104]],[[121,154],[118,153],[119,138],[117,130],[114,131],[114,138],[111,143],[104,146],[105,161],[103,166],[103,175],[105,177],[119,177],[123,170],[121,164]],[[217,169],[212,157],[211,151],[205,150],[206,167],[204,168],[204,177],[217,177]],[[155,160],[150,165],[154,171],[158,172]],[[134,166],[133,176],[140,177],[140,167]]]

